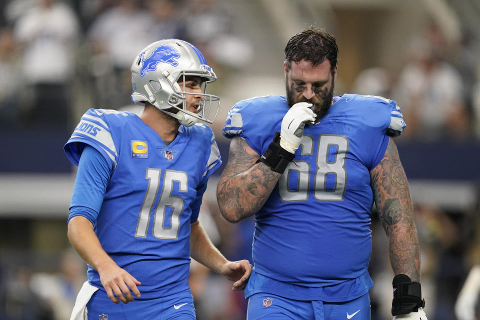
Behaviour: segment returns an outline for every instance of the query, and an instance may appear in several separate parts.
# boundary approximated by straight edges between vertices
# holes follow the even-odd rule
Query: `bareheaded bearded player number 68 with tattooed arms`
[[[255,215],[248,319],[368,320],[373,201],[388,237],[394,319],[426,320],[394,101],[333,96],[337,44],[310,27],[285,47],[286,95],[237,102],[223,135],[222,215]]]

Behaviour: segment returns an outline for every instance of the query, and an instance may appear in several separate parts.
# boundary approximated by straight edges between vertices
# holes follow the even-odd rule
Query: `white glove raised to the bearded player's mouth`
[[[298,102],[283,116],[280,130],[280,146],[290,153],[295,153],[300,146],[305,123],[313,124],[316,114],[310,109],[311,103]]]

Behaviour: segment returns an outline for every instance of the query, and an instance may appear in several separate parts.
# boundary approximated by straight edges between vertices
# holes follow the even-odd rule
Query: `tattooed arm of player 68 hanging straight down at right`
[[[395,274],[420,281],[420,252],[413,206],[405,172],[392,138],[380,163],[370,171],[371,188],[381,224],[388,237],[390,263]]]

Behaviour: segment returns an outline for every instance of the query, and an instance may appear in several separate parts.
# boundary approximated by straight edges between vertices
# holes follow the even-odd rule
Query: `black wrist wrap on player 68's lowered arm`
[[[393,286],[391,315],[416,312],[418,307],[425,306],[425,300],[421,298],[420,283],[411,281],[408,275],[395,275],[391,284]]]

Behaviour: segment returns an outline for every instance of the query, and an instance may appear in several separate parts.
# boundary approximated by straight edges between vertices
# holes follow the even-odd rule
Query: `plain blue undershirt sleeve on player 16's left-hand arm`
[[[110,168],[106,159],[95,148],[85,145],[80,154],[68,220],[83,215],[94,224],[109,179]]]

